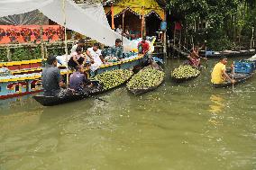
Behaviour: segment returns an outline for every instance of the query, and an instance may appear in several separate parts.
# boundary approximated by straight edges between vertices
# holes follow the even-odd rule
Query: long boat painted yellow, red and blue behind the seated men
[[[130,69],[133,67],[138,67],[142,65],[144,59],[145,58],[143,58],[143,56],[134,56],[134,58],[131,59],[128,58],[123,61],[105,64],[98,68],[95,72],[90,72],[90,76],[96,76],[105,71],[114,69]],[[9,68],[12,72],[12,75],[10,76],[0,76],[0,99],[41,92],[41,61],[41,59],[38,59],[32,61],[0,63],[0,67],[7,67],[10,65],[10,67],[7,68]],[[23,70],[26,70],[29,72],[29,74],[27,74],[27,72],[24,72],[26,74],[22,74],[21,70],[19,70],[25,67],[28,67],[28,69]],[[33,69],[35,72],[32,71]],[[30,71],[33,73],[30,73]],[[60,73],[62,76],[67,75],[67,69],[61,69],[60,67]],[[69,74],[71,74],[70,71]]]

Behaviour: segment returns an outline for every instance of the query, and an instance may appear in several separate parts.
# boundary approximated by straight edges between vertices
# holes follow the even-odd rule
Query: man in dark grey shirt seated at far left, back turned
[[[42,87],[45,96],[56,96],[59,94],[60,87],[65,88],[60,70],[57,67],[57,58],[49,56],[47,58],[49,67],[45,67],[41,73]]]

